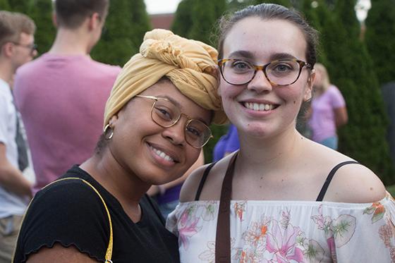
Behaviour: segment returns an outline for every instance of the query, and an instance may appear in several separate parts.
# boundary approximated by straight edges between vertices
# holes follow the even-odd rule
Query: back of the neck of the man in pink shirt
[[[75,30],[60,27],[50,54],[57,55],[87,55],[90,53],[90,33],[84,27]]]

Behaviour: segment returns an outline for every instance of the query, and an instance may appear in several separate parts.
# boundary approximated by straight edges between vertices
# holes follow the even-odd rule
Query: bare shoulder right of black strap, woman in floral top
[[[336,171],[326,197],[335,202],[370,203],[385,195],[384,184],[375,173],[362,164],[347,164]]]

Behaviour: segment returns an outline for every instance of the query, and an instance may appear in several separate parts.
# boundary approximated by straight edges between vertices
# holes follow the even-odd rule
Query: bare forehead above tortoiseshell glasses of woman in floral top
[[[303,32],[293,23],[251,17],[238,21],[229,31],[224,40],[224,58],[247,51],[259,63],[268,62],[278,54],[305,61],[306,47]]]

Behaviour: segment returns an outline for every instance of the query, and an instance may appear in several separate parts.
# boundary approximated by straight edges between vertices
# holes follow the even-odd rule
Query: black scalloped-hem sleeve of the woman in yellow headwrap
[[[107,212],[97,193],[80,180],[58,181],[32,200],[20,228],[16,255],[25,257],[59,243],[63,247],[73,244],[100,259],[108,238]]]

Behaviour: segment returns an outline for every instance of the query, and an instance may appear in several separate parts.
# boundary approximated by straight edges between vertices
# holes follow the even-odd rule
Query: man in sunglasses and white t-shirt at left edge
[[[37,55],[35,23],[21,13],[0,11],[0,263],[11,262],[22,216],[32,197],[18,151],[19,119],[10,83],[19,66]]]

